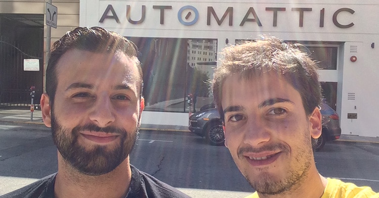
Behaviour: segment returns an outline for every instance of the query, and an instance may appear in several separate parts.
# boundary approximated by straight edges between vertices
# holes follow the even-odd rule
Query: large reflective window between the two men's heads
[[[145,111],[188,112],[187,95],[193,96],[195,111],[212,103],[209,81],[216,67],[217,39],[128,39],[139,51],[144,73]]]

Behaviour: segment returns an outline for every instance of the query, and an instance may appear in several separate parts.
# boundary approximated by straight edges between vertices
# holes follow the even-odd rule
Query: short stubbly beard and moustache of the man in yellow
[[[259,174],[259,177],[249,178],[249,171],[242,170],[242,173],[245,176],[246,180],[249,182],[249,184],[257,192],[266,195],[278,195],[285,193],[289,190],[296,190],[301,185],[301,183],[308,177],[308,172],[311,167],[311,158],[313,156],[311,141],[310,139],[309,141],[307,141],[305,138],[308,139],[306,134],[304,134],[303,145],[297,146],[296,148],[296,150],[299,151],[299,153],[295,156],[295,161],[297,162],[297,165],[296,167],[290,167],[290,170],[288,170],[287,173],[288,176],[286,178],[275,179],[275,176],[272,176],[270,173],[264,172],[264,169],[262,169],[263,173]],[[282,151],[283,154],[290,154],[290,148],[288,145],[285,144],[269,145],[262,147],[259,150],[271,151],[275,149],[280,149],[280,151]],[[239,158],[240,153],[243,152],[242,150],[251,151],[255,149],[242,148],[241,150],[239,150]]]

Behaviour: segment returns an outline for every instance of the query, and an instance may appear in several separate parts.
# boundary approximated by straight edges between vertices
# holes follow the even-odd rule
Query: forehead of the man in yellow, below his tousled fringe
[[[282,76],[265,73],[247,79],[234,74],[226,77],[222,85],[222,106],[258,105],[270,98],[288,98],[302,104],[301,96]]]

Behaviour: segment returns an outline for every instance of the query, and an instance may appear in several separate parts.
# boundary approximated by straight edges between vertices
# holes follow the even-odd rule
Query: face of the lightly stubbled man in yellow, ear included
[[[226,78],[222,87],[225,145],[260,193],[298,185],[314,166],[311,135],[321,134],[318,108],[307,116],[300,93],[282,77]]]

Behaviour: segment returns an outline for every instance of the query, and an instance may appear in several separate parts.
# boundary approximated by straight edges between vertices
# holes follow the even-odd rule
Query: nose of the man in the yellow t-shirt
[[[244,136],[244,143],[253,147],[264,145],[271,139],[271,133],[264,122],[260,120],[248,120],[247,129]]]

